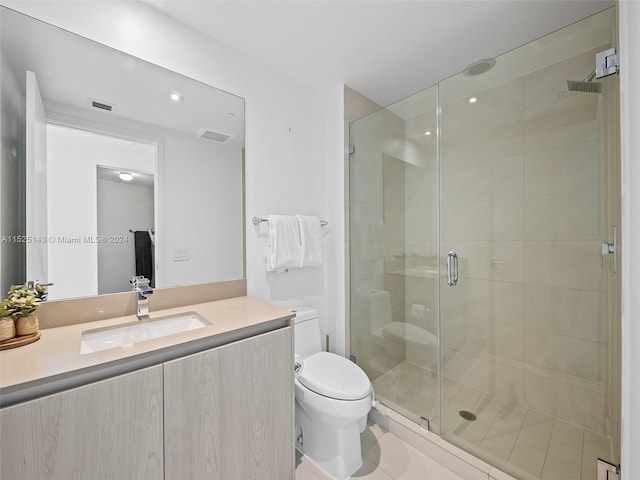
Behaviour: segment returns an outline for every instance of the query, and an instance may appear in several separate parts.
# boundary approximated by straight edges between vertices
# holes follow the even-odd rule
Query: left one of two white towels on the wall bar
[[[302,246],[298,220],[291,215],[269,215],[268,220],[267,271],[281,272],[299,267]]]

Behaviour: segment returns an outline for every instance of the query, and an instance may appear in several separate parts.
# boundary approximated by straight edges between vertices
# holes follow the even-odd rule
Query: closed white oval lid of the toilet
[[[371,392],[362,369],[335,353],[318,352],[305,358],[297,379],[309,390],[338,400],[360,400]]]

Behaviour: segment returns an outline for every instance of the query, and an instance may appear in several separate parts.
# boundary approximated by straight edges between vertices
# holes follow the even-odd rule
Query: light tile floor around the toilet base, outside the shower
[[[369,423],[360,441],[363,465],[352,479],[463,480],[376,424]],[[296,452],[296,480],[330,480],[330,477]]]

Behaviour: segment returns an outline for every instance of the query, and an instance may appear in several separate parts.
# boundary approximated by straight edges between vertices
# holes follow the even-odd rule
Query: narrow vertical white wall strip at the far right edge
[[[619,2],[622,135],[622,478],[640,478],[640,2]],[[635,189],[634,189],[635,187]]]

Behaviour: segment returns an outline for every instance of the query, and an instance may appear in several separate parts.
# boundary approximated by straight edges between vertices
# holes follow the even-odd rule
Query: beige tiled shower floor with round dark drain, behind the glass
[[[450,379],[443,379],[440,417],[437,376],[416,369],[403,362],[376,379],[378,399],[414,422],[428,418],[430,430],[517,478],[595,480],[597,458],[612,458],[609,437]],[[463,420],[460,410],[477,419]]]

